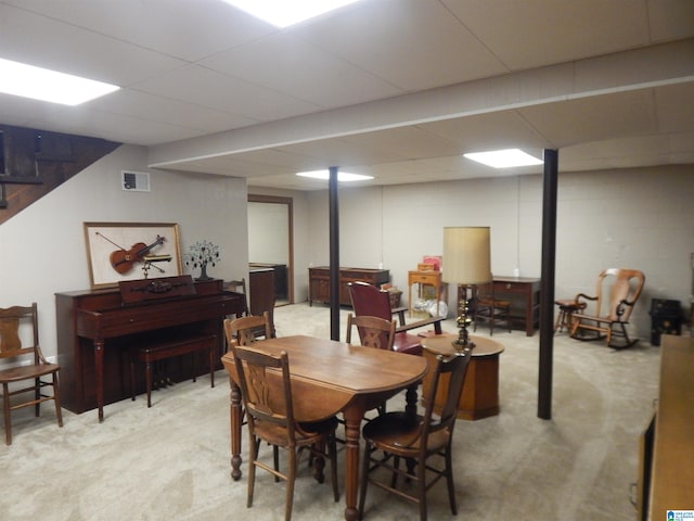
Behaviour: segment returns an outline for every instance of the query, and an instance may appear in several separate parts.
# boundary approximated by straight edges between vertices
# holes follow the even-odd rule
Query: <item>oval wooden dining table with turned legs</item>
[[[364,415],[402,390],[406,411],[416,414],[416,386],[427,372],[424,357],[308,335],[260,340],[252,348],[290,360],[294,416],[319,421],[337,414],[345,420],[345,519],[358,519],[359,453]],[[231,475],[241,479],[242,404],[232,353],[221,357],[229,373]]]

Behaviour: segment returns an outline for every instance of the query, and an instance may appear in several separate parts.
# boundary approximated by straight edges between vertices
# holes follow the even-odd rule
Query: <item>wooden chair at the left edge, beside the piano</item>
[[[23,330],[30,345],[23,346]],[[0,371],[2,383],[2,410],[4,415],[5,444],[12,445],[12,411],[34,405],[35,416],[40,415],[41,403],[52,399],[55,403],[57,427],[63,427],[61,409],[61,389],[57,373],[61,366],[50,364],[39,345],[39,321],[36,302],[30,306],[0,308],[0,359],[12,360],[16,365]],[[50,381],[42,378],[51,377]],[[31,382],[27,384],[26,382]],[[10,390],[10,385],[24,385]],[[52,386],[52,394],[43,394],[43,389]],[[33,393],[31,399],[14,403],[12,396]]]

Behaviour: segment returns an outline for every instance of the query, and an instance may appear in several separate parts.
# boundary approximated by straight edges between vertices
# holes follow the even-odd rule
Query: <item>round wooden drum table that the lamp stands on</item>
[[[434,359],[437,355],[451,355],[454,353],[453,334],[439,334],[423,339],[424,357]],[[467,366],[465,384],[458,406],[458,418],[464,420],[479,420],[499,414],[499,355],[503,353],[503,346],[491,339],[483,336],[470,336],[475,343],[473,356]],[[429,363],[430,364],[430,363]],[[426,395],[428,379],[424,379],[423,393]],[[441,407],[446,399],[448,385],[439,386],[439,392],[434,401],[435,407]]]

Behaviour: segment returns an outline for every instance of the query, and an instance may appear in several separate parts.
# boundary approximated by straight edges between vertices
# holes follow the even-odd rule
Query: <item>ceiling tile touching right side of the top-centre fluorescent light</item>
[[[407,91],[507,71],[439,2],[364,1],[293,33]]]

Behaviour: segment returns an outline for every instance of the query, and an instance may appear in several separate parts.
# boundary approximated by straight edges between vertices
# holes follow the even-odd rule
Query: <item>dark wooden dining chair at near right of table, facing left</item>
[[[419,504],[420,519],[425,521],[426,493],[440,479],[446,479],[448,484],[451,512],[453,516],[458,513],[451,443],[471,354],[471,350],[465,350],[449,358],[440,355],[436,358],[430,386],[424,397],[423,416],[412,418],[402,411],[388,412],[364,425],[362,433],[365,448],[359,487],[359,519],[363,518],[368,487],[373,484]],[[434,402],[439,392],[445,393],[446,399],[440,416],[435,417]],[[401,459],[409,463],[407,469],[400,469]],[[378,469],[385,469],[389,473],[389,482],[382,481],[384,476],[378,474]],[[407,484],[399,487],[398,478],[404,478]]]

